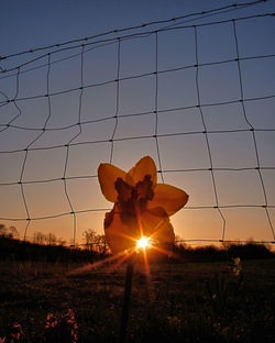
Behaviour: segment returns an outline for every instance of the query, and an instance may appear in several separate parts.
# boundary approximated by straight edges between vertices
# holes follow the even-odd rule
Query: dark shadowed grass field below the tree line
[[[1,262],[0,342],[119,342],[125,266],[79,267]],[[134,270],[129,342],[275,341],[274,258]]]

